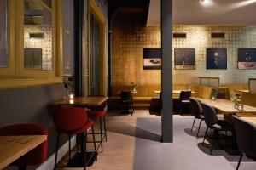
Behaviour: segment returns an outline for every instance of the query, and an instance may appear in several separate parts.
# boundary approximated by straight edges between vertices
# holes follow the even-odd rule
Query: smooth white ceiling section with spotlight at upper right
[[[256,24],[256,0],[172,0],[173,24]],[[160,0],[150,0],[147,25],[160,25]]]

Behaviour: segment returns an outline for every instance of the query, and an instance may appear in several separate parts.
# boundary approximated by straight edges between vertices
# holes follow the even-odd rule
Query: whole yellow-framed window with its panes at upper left
[[[0,41],[1,89],[62,82],[61,0],[0,0]]]

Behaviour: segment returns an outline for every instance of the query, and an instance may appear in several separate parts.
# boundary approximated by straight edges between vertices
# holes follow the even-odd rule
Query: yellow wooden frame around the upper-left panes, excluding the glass
[[[24,0],[9,0],[9,67],[0,68],[0,90],[26,88],[63,82],[62,78],[62,4],[52,1],[53,70],[24,68]]]

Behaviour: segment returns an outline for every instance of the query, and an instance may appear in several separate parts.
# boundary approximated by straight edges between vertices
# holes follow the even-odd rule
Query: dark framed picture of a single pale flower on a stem
[[[227,48],[207,48],[207,69],[227,69]]]

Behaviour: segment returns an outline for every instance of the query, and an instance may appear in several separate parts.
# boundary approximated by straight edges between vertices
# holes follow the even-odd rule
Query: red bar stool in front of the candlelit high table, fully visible
[[[58,157],[58,147],[59,147],[59,140],[61,133],[66,133],[68,135],[68,158],[70,161],[71,157],[71,144],[70,139],[71,135],[73,134],[80,134],[81,135],[81,153],[84,157],[83,160],[85,161],[86,155],[86,140],[87,140],[87,131],[90,129],[92,130],[93,134],[93,141],[94,141],[94,149],[96,150],[96,143],[95,143],[95,135],[94,135],[94,121],[87,119],[87,113],[83,108],[79,107],[55,107],[53,111],[53,122],[55,127],[58,131],[57,134],[57,142],[56,142],[56,149],[55,149],[55,168],[57,167],[57,157]],[[84,136],[85,133],[85,136]],[[85,152],[85,153],[84,153]],[[84,169],[88,164],[84,162]]]

